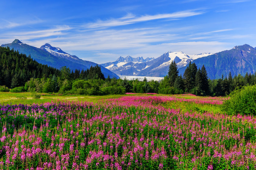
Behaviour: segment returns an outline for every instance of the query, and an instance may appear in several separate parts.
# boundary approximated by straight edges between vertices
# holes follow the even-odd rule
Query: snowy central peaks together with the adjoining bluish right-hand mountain
[[[226,77],[229,72],[231,72],[232,76],[238,74],[244,76],[246,73],[254,74],[256,71],[256,48],[247,44],[235,46],[230,50],[215,54],[190,55],[181,51],[168,51],[158,58],[147,58],[148,61],[141,60],[141,62],[134,62],[133,59],[135,58],[127,57],[130,59],[129,61],[120,60],[121,57],[119,57],[114,62],[101,65],[117,75],[126,76],[164,77],[168,74],[168,67],[171,61],[175,61],[181,75],[183,75],[189,62],[195,63],[198,68],[204,65],[210,79],[219,79],[222,75]]]

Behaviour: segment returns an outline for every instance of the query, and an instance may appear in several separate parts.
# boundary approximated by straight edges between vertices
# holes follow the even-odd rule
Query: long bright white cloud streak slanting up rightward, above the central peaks
[[[156,15],[143,15],[143,16],[136,16],[133,14],[128,14],[121,18],[110,19],[110,20],[98,20],[94,23],[87,23],[85,24],[85,28],[92,29],[92,28],[106,28],[106,27],[113,27],[113,26],[122,26],[128,25],[133,23],[145,22],[150,20],[158,20],[158,19],[177,19],[183,17],[191,17],[195,15],[203,14],[203,11],[195,11],[195,10],[188,10],[188,11],[180,11],[174,12],[171,14],[156,14]]]

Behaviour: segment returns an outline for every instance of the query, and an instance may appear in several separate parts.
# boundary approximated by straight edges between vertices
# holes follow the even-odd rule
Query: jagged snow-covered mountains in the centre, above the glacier
[[[178,68],[181,68],[186,66],[190,61],[208,55],[211,54],[201,53],[197,55],[189,55],[184,54],[181,51],[168,51],[156,59],[146,58],[144,60],[143,57],[133,58],[131,56],[127,56],[125,58],[119,57],[114,62],[104,63],[101,65],[117,75],[163,77],[167,75],[171,61],[175,61]]]

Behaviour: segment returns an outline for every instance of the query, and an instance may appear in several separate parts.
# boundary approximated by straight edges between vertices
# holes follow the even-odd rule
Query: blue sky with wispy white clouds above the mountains
[[[0,6],[0,44],[45,43],[95,63],[167,51],[256,47],[256,0],[12,1]]]

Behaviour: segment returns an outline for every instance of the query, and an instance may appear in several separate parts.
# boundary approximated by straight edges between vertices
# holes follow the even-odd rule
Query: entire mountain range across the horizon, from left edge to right
[[[30,55],[37,62],[54,68],[67,66],[75,71],[75,69],[86,70],[91,66],[96,66],[96,63],[82,60],[75,55],[62,51],[60,48],[52,47],[48,43],[36,48],[15,39],[12,43],[1,46],[14,48],[20,53]],[[229,72],[232,76],[238,74],[244,76],[246,73],[254,74],[256,71],[256,48],[245,44],[215,54],[190,55],[181,51],[168,51],[157,58],[147,57],[144,59],[143,57],[120,56],[116,61],[101,64],[101,70],[105,77],[110,75],[111,78],[119,78],[118,75],[164,77],[168,73],[171,61],[177,63],[181,75],[191,62],[195,63],[198,68],[204,65],[210,79],[218,79],[222,75],[226,77]]]

